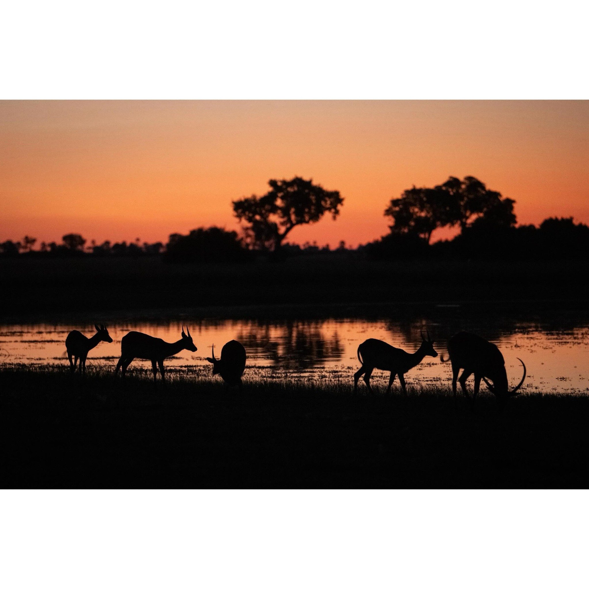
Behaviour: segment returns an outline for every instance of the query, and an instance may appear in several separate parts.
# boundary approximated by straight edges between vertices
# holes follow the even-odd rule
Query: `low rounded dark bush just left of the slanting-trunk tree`
[[[200,227],[188,235],[173,233],[164,254],[168,262],[241,262],[246,257],[236,231],[220,227]]]

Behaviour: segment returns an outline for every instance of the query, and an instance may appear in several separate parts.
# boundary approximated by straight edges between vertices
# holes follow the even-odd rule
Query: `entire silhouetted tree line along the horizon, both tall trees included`
[[[449,177],[433,188],[413,186],[393,198],[384,214],[392,220],[389,233],[378,240],[346,248],[344,241],[331,250],[316,243],[286,243],[297,226],[316,223],[325,214],[339,214],[343,198],[337,190],[325,190],[312,180],[270,180],[270,190],[259,197],[233,201],[233,212],[243,223],[241,237],[221,227],[200,227],[187,235],[173,233],[168,243],[104,241],[97,244],[80,234],[68,233],[61,243],[42,242],[25,236],[22,241],[0,243],[2,256],[163,256],[166,262],[247,262],[256,257],[282,259],[315,254],[362,255],[369,259],[416,257],[456,258],[585,258],[589,257],[589,227],[572,217],[550,218],[539,227],[516,226],[515,201],[489,190],[473,176]],[[451,240],[431,243],[442,227],[459,229]]]

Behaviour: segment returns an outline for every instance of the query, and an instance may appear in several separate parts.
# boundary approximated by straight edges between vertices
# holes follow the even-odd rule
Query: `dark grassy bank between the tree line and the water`
[[[1,259],[0,317],[250,305],[584,305],[588,271],[585,260],[369,262],[356,253],[245,264],[166,264],[158,257]]]

